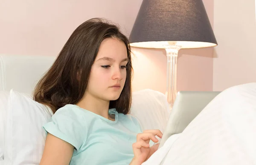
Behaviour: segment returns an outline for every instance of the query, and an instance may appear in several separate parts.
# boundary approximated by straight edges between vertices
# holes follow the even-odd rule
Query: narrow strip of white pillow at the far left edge
[[[6,123],[6,112],[8,109],[8,98],[10,91],[0,91],[0,161],[3,160],[4,132]]]

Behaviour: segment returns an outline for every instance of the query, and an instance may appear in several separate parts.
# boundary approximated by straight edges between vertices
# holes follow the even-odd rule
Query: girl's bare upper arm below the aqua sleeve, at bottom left
[[[69,165],[73,151],[73,145],[48,134],[40,165]]]

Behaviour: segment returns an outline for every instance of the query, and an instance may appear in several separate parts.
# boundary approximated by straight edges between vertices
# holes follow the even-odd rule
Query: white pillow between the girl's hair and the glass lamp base
[[[159,129],[163,132],[170,112],[167,98],[163,93],[151,89],[133,92],[131,114],[137,117],[143,131]]]

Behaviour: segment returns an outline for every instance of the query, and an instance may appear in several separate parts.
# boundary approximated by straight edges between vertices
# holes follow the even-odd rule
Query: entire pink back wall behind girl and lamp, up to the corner
[[[213,0],[203,0],[213,23]],[[0,53],[56,56],[73,30],[92,17],[119,23],[129,35],[142,0],[1,0]],[[165,93],[165,51],[133,48],[134,91],[151,88]],[[212,90],[212,48],[181,50],[177,88]]]

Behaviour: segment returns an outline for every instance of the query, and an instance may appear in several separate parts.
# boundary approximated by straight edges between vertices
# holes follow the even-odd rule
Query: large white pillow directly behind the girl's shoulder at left
[[[42,126],[52,112],[29,95],[10,91],[5,134],[5,165],[39,164],[46,140]]]

